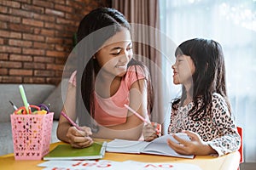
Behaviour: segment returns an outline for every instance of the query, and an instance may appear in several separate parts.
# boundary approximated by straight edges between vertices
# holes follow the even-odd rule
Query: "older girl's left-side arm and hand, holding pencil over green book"
[[[76,120],[75,103],[76,101],[76,87],[72,83],[68,83],[67,98],[64,103],[63,110],[74,122]],[[92,144],[92,139],[89,127],[82,127],[83,131],[72,127],[70,122],[64,116],[60,116],[57,137],[63,142],[70,143],[73,147],[83,148]]]

